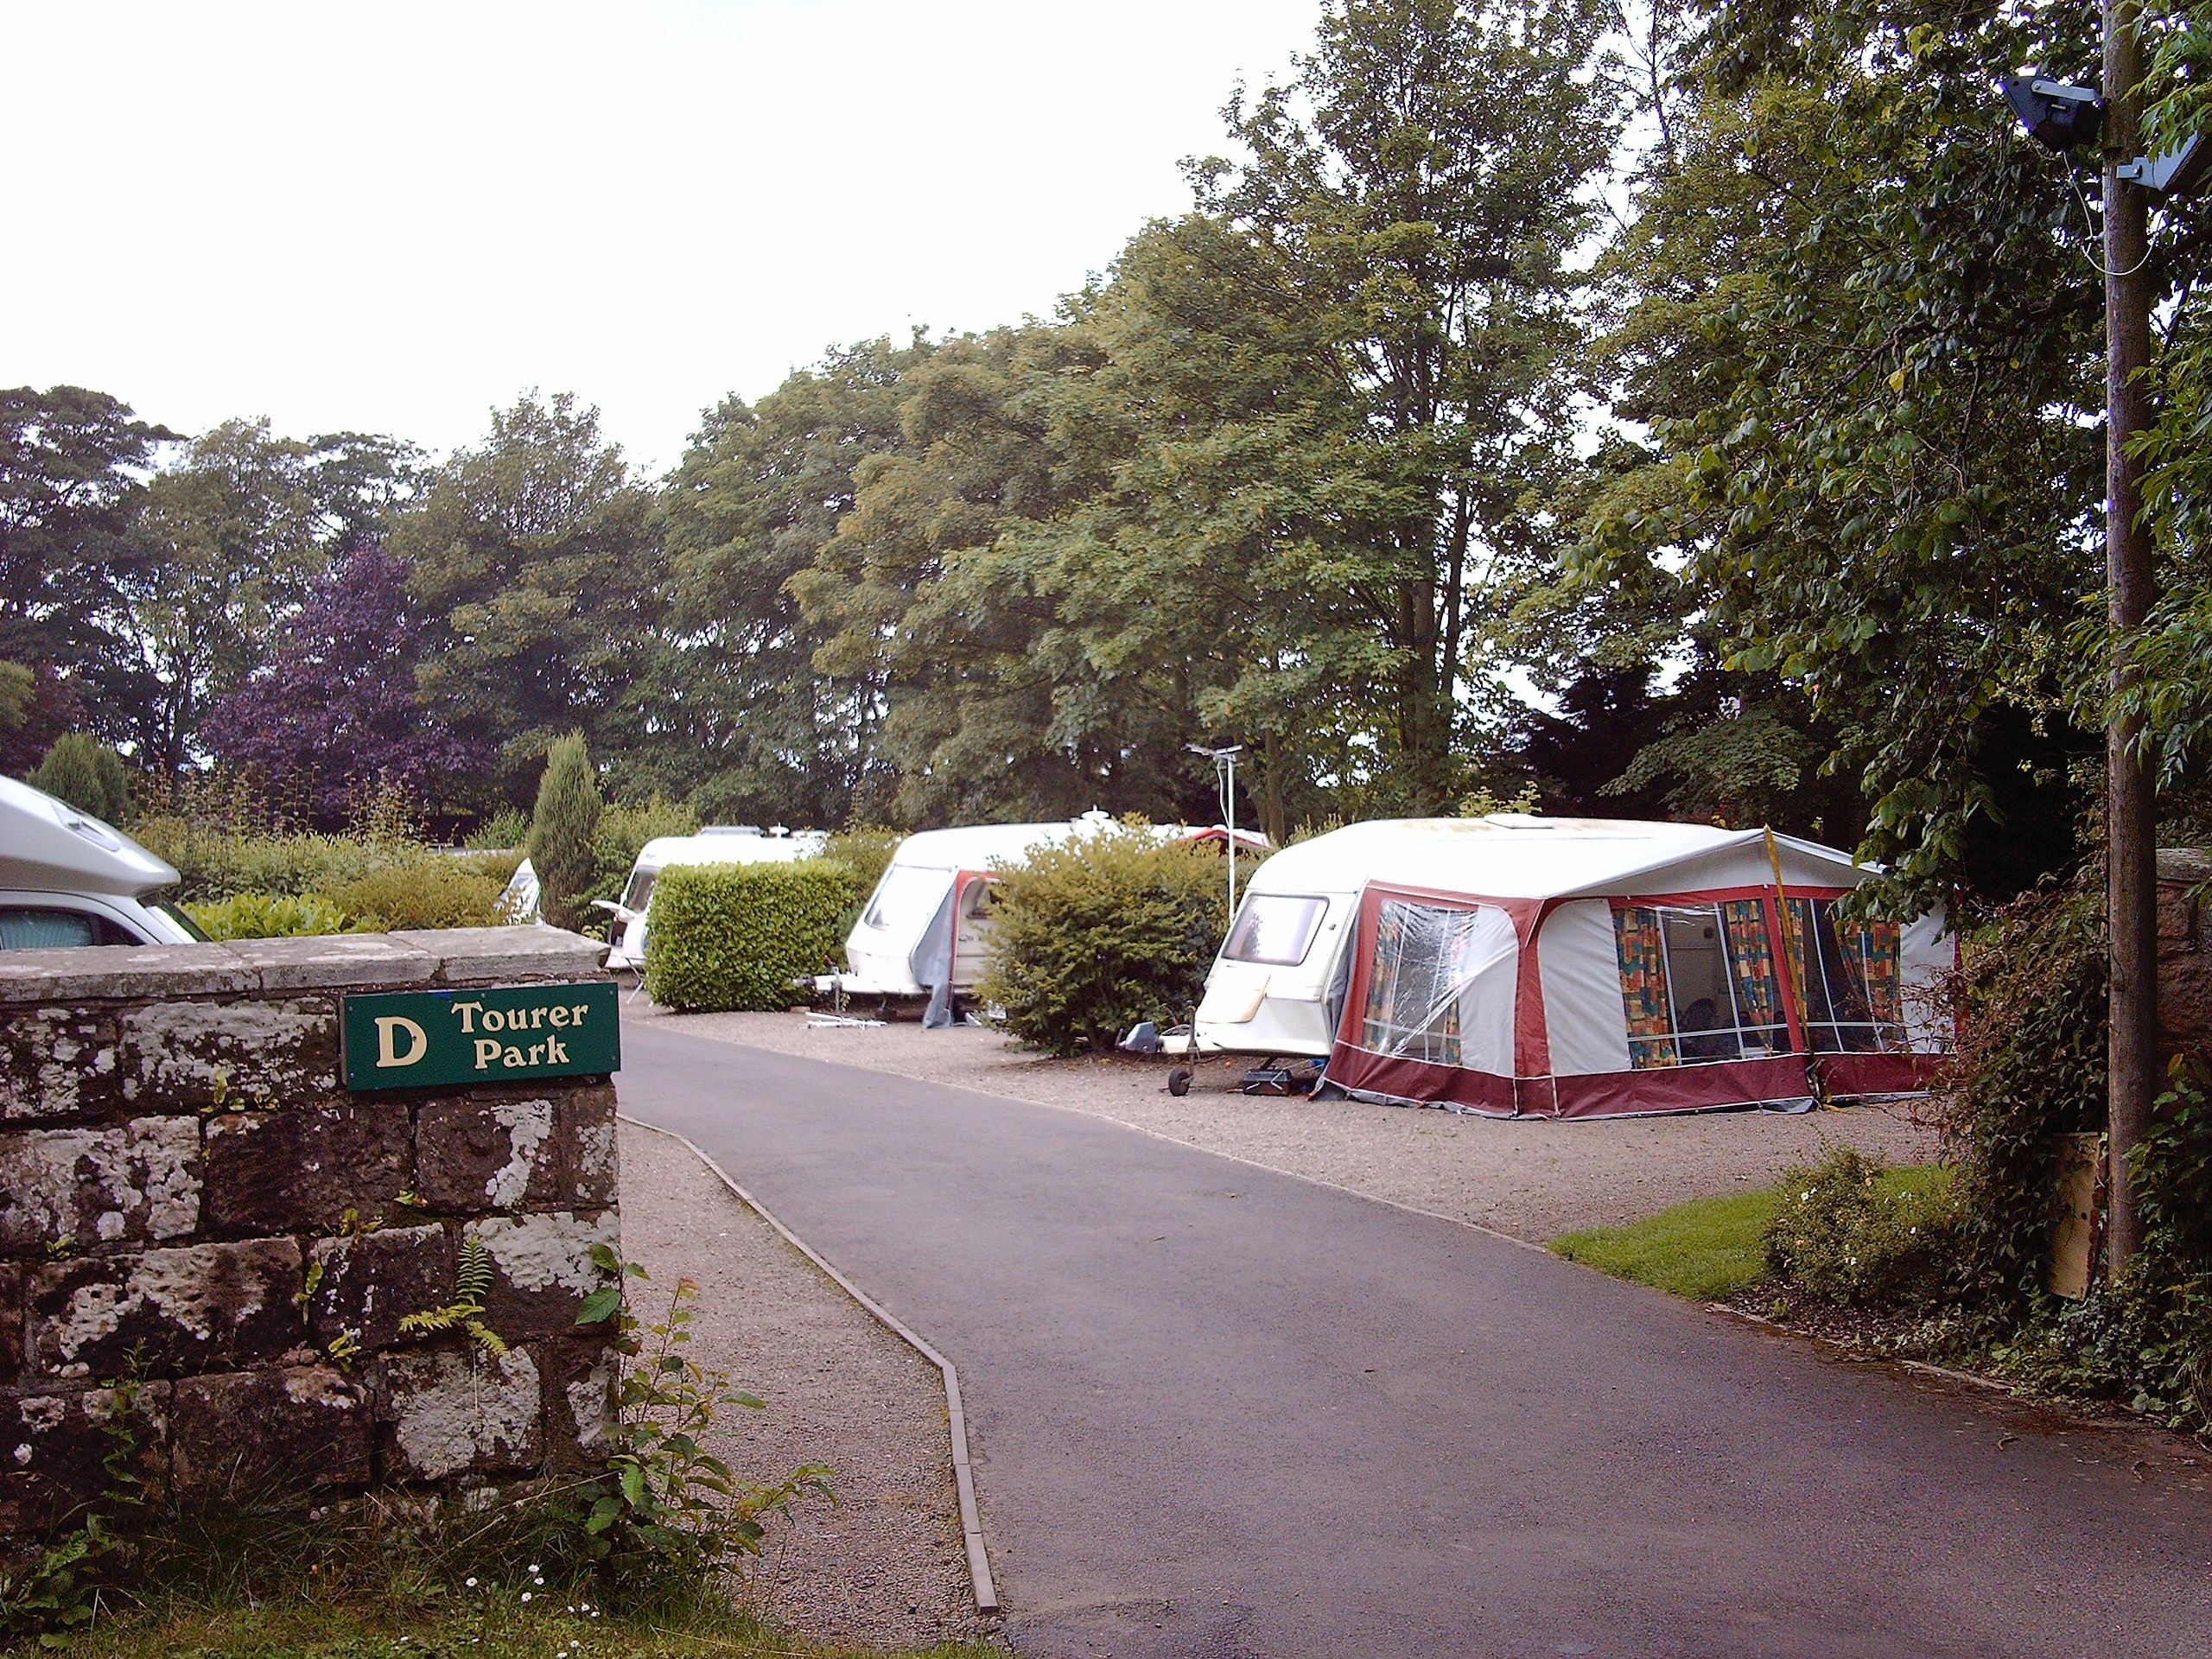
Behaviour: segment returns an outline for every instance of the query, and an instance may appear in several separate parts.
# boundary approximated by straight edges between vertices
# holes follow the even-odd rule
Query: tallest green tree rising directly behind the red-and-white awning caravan
[[[1303,336],[1329,376],[1283,436],[1411,812],[1455,799],[1493,584],[1551,544],[1531,502],[1571,458],[1604,22],[1582,0],[1340,0],[1296,82],[1232,100],[1243,161],[1197,168],[1201,208],[1256,254],[1223,310]]]

